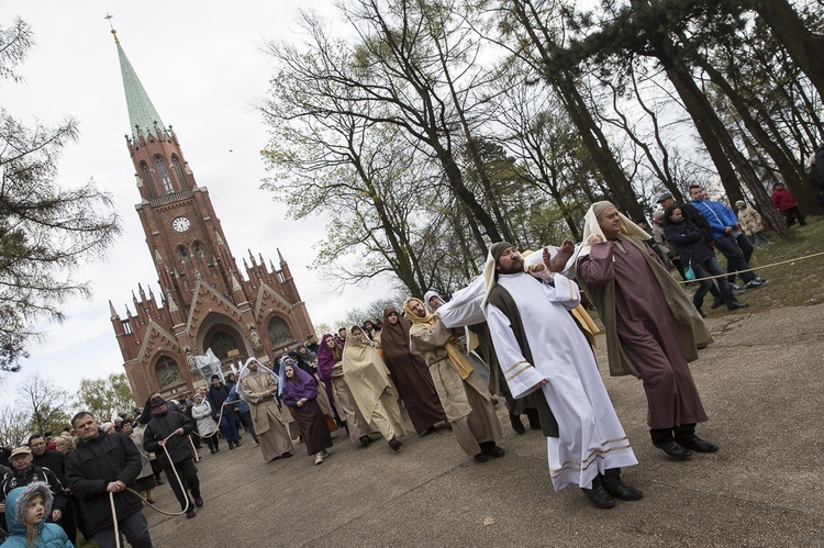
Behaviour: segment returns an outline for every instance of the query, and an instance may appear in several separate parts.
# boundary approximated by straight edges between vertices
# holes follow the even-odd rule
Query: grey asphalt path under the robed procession
[[[676,462],[655,449],[634,378],[605,378],[639,465],[643,500],[592,507],[553,491],[546,441],[517,436],[499,406],[502,459],[478,465],[449,430],[363,449],[336,433],[321,466],[263,463],[245,436],[200,462],[205,506],[193,519],[146,511],[158,547],[268,546],[821,546],[824,543],[824,305],[708,318],[715,343],[692,364],[722,450]],[[604,374],[603,336],[599,364]],[[413,432],[410,427],[410,432]],[[177,503],[167,485],[162,506]]]

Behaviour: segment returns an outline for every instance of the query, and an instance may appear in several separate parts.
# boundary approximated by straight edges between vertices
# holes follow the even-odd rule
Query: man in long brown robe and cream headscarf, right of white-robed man
[[[644,381],[653,445],[676,459],[719,447],[695,435],[708,420],[688,361],[712,342],[687,294],[610,202],[587,212],[577,279],[606,327],[610,373]]]

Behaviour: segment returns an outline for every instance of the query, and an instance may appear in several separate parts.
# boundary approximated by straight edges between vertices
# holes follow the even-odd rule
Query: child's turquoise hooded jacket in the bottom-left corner
[[[43,482],[30,483],[24,488],[14,488],[5,499],[5,524],[9,526],[9,538],[3,543],[3,548],[27,548],[25,529],[25,507],[32,496],[40,493],[43,496],[45,512],[43,521],[37,524],[37,538],[34,539],[34,548],[73,548],[66,533],[59,525],[46,523],[52,514],[54,496],[48,485]]]

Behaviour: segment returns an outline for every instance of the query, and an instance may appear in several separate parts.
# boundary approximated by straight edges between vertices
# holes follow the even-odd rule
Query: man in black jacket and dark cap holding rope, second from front
[[[189,443],[189,435],[194,430],[194,421],[178,411],[169,411],[166,401],[160,396],[152,398],[148,404],[152,407],[152,421],[143,434],[143,448],[157,456],[160,468],[166,471],[169,485],[180,502],[180,508],[186,511],[186,517],[194,517],[194,508],[186,493],[188,485],[194,497],[194,506],[203,505],[198,469],[192,462]]]

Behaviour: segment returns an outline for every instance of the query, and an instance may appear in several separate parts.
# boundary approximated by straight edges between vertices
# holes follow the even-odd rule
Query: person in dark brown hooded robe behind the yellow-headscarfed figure
[[[398,314],[394,306],[388,306],[383,311],[380,348],[409,418],[415,432],[423,435],[435,430],[437,423],[446,421],[446,414],[437,396],[430,368],[423,358],[409,349],[411,325],[409,320]]]

